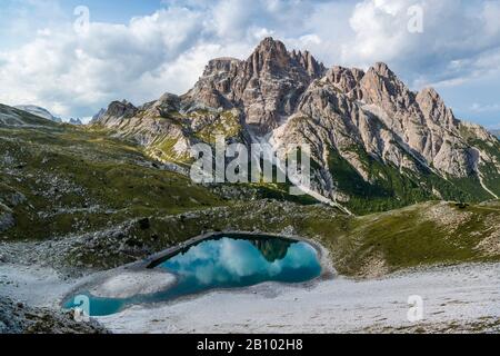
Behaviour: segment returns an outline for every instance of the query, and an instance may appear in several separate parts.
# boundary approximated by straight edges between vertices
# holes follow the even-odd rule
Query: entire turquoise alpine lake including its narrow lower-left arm
[[[110,315],[130,305],[168,301],[211,289],[242,288],[264,281],[303,283],[321,274],[318,251],[311,245],[254,235],[222,235],[202,240],[150,267],[164,271],[166,278],[176,276],[176,281],[163,290],[127,298],[102,298],[82,291],[80,296],[89,299],[90,315]],[[67,300],[64,307],[76,307],[73,300]]]

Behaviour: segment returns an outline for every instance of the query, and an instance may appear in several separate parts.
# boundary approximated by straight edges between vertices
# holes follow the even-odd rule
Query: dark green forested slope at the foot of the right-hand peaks
[[[336,149],[330,151],[329,167],[337,189],[349,196],[349,200],[342,204],[358,215],[388,211],[438,199],[434,191],[439,191],[440,198],[444,200],[478,202],[491,199],[474,178],[446,180],[423,166],[420,166],[418,174],[409,169],[401,171],[398,167],[381,164],[360,148],[353,147],[352,154],[358,156],[369,172],[369,181]]]

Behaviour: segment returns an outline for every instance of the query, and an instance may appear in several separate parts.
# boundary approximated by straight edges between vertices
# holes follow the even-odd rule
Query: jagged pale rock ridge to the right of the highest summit
[[[377,63],[367,73],[336,67],[326,79],[326,85],[331,83],[339,91],[337,96],[346,95],[357,107],[377,117],[390,131],[386,137],[403,142],[417,159],[442,174],[470,174],[473,157],[459,137],[458,120],[436,90],[412,92],[384,63]],[[360,128],[361,136],[373,139],[373,132],[364,129]],[[384,141],[383,146],[391,145]],[[363,145],[370,146],[366,141]]]

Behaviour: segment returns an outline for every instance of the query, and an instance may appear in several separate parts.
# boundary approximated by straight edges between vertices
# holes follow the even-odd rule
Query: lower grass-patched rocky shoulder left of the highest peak
[[[246,139],[238,109],[209,108],[172,93],[140,107],[113,101],[92,125],[136,140],[147,147],[151,157],[163,162],[188,162],[191,147],[213,141],[216,132],[233,140]]]

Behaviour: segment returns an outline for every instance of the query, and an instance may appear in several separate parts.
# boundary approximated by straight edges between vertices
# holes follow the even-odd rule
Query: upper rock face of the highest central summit
[[[210,61],[188,98],[209,107],[240,107],[247,125],[267,134],[293,112],[307,87],[324,72],[311,53],[289,52],[282,42],[266,38],[244,61]]]

